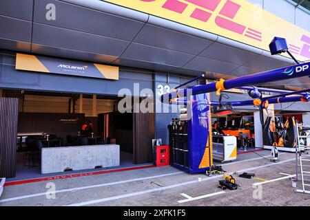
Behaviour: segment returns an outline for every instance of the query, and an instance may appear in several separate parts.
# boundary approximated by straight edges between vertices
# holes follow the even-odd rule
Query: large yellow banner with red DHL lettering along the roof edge
[[[274,36],[287,39],[300,61],[310,59],[310,32],[247,0],[104,0],[225,36],[269,51]]]

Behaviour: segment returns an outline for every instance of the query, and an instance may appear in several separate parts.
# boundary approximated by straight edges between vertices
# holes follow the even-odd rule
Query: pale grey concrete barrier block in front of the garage
[[[42,148],[41,173],[119,166],[119,152],[117,144]]]

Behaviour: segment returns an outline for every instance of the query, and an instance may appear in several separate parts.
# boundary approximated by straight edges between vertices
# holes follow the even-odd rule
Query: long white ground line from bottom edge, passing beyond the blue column
[[[295,160],[295,158],[294,159],[283,160],[282,162],[278,162],[278,163],[265,164],[265,165],[262,165],[262,166],[256,166],[256,167],[252,167],[252,168],[238,170],[237,172],[241,173],[241,172],[245,172],[245,171],[249,171],[249,170],[257,170],[257,169],[260,169],[260,168],[265,168],[267,166],[275,166],[275,165],[278,165],[278,164],[283,164],[283,163],[286,163],[286,162],[290,162],[292,160]],[[231,173],[234,173],[234,172],[231,172]],[[211,179],[216,179],[218,177],[223,178],[223,176],[221,176],[221,175],[220,176],[213,176],[213,177],[205,177],[201,181],[208,181],[208,180],[211,180]],[[183,182],[183,183],[180,183],[180,184],[174,184],[174,185],[164,186],[164,187],[159,187],[159,188],[152,188],[152,189],[143,190],[143,191],[140,191],[140,192],[132,192],[132,193],[128,193],[128,194],[118,195],[118,196],[114,196],[114,197],[106,197],[106,198],[103,198],[103,199],[95,199],[95,200],[85,201],[85,202],[81,202],[81,203],[72,203],[72,204],[70,204],[68,206],[87,206],[87,205],[92,205],[92,204],[95,204],[95,203],[102,203],[102,202],[105,202],[105,201],[111,201],[111,200],[116,200],[116,199],[123,199],[123,198],[127,198],[127,197],[134,197],[136,195],[143,195],[143,194],[146,194],[146,193],[149,193],[149,192],[162,191],[162,190],[167,190],[167,189],[170,189],[170,188],[176,188],[176,187],[179,187],[179,186],[186,186],[186,185],[189,185],[189,184],[196,184],[196,183],[201,182],[201,181],[198,181],[198,180],[186,181],[186,182]]]

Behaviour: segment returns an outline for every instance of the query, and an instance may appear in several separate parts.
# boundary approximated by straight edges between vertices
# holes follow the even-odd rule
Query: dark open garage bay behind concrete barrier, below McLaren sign
[[[152,142],[148,143],[143,139],[154,138],[154,115],[120,113],[118,111],[120,98],[116,96],[24,90],[3,90],[3,95],[19,99],[17,163],[14,179],[79,173],[81,170],[85,172],[124,168],[152,162]],[[139,117],[143,117],[143,120]],[[101,151],[115,144],[119,145],[119,152],[115,149],[112,149],[112,152]],[[98,164],[81,170],[68,166],[61,173],[42,174],[42,148],[61,149],[63,152],[61,158],[67,159],[65,151],[74,148],[81,150],[83,146],[100,146],[99,152],[101,155],[108,154],[108,161],[115,160],[114,157],[118,157],[119,153],[119,164],[117,162],[116,166]],[[82,154],[79,152],[81,160],[83,160]],[[59,159],[56,156],[55,158]],[[91,158],[96,159],[96,155]]]

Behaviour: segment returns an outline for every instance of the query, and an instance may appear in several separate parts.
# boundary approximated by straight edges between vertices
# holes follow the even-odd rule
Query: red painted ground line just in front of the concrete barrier
[[[123,171],[129,171],[129,170],[139,170],[144,168],[152,168],[154,165],[147,165],[147,166],[135,166],[135,167],[129,167],[129,168],[120,168],[115,170],[102,170],[102,171],[96,171],[96,172],[87,172],[87,173],[74,173],[69,175],[59,175],[59,176],[53,176],[53,177],[42,177],[42,178],[36,178],[36,179],[23,179],[23,180],[17,180],[17,181],[8,181],[4,186],[13,186],[13,185],[21,185],[21,184],[30,184],[38,181],[52,181],[56,179],[68,179],[68,178],[74,178],[74,177],[85,177],[90,175],[100,175],[104,173],[116,173],[116,172],[123,172]]]

